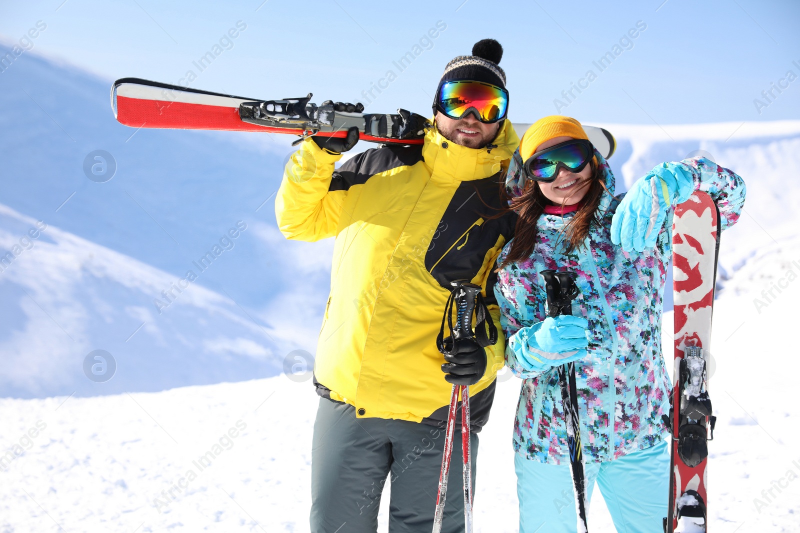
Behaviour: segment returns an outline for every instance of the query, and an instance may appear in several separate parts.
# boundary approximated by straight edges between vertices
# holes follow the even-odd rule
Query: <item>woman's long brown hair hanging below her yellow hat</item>
[[[598,165],[591,161],[590,163],[592,173],[589,179],[584,180],[579,189],[588,187],[586,196],[583,197],[582,205],[574,217],[566,223],[562,230],[563,237],[566,237],[568,245],[566,251],[573,252],[583,245],[586,237],[593,227],[600,224],[600,217],[598,213],[598,206],[602,198],[603,191],[606,189],[606,184],[603,183],[602,170]],[[610,193],[610,191],[608,191]],[[503,194],[507,193],[503,191]],[[565,198],[565,202],[569,197]],[[514,229],[514,239],[511,241],[511,249],[509,250],[506,259],[498,266],[505,268],[507,265],[516,263],[518,261],[525,261],[534,253],[534,246],[536,245],[536,227],[539,217],[545,212],[545,205],[551,205],[552,202],[547,200],[539,188],[537,181],[528,181],[522,195],[510,201],[509,210],[514,210],[518,213],[517,225]],[[562,207],[564,205],[562,204]]]

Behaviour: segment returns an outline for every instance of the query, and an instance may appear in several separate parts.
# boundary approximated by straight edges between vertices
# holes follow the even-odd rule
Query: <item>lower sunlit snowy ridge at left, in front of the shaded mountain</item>
[[[21,249],[0,263],[6,366],[0,384],[6,394],[107,394],[136,383],[161,390],[176,379],[209,383],[210,368],[214,380],[281,371],[267,347],[274,345],[268,326],[242,315],[230,296],[198,284],[200,268],[214,268],[224,254],[209,256],[213,261],[205,257],[202,265],[194,261],[187,270],[198,277],[190,282],[38,224],[0,205],[0,247]],[[235,253],[235,245],[225,253]],[[84,356],[106,346],[114,346],[115,372],[122,379],[87,380]]]

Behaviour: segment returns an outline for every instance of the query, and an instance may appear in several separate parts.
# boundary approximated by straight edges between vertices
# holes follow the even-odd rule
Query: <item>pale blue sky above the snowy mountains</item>
[[[789,70],[800,76],[800,2],[0,4],[5,42],[18,42],[38,21],[46,30],[31,39],[34,53],[108,81],[174,83],[192,71],[197,78],[190,86],[198,89],[264,99],[313,92],[314,101],[366,102],[362,91],[391,70],[396,79],[381,82],[388,85],[381,93],[373,90],[368,109],[428,113],[446,62],[492,37],[506,50],[501,66],[514,121],[557,110],[582,121],[641,124],[800,119],[800,79],[786,78]],[[430,38],[437,23],[446,29]],[[231,29],[236,37],[226,38]],[[201,72],[194,62],[221,39],[222,52]],[[414,61],[399,70],[395,62],[414,51]],[[614,60],[600,70],[595,63],[607,52]],[[595,77],[588,81],[590,70]],[[0,73],[0,89],[9,83]],[[581,93],[574,84],[584,87]],[[784,88],[778,93],[771,84]],[[570,89],[567,99],[562,91]],[[766,100],[762,91],[770,89]]]

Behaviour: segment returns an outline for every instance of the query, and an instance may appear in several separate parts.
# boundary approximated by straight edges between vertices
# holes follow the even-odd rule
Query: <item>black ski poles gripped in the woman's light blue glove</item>
[[[575,272],[548,269],[539,274],[545,279],[547,316],[571,315],[572,300],[578,296]],[[570,474],[578,514],[578,533],[588,533],[586,524],[586,474],[583,470],[581,425],[578,418],[578,388],[575,384],[575,363],[558,367],[558,384],[566,422],[566,442],[570,450]]]

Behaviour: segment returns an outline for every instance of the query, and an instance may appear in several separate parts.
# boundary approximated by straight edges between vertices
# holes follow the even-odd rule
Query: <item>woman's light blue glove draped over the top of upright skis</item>
[[[611,242],[626,252],[653,248],[666,210],[689,199],[694,174],[683,163],[662,163],[642,177],[622,198],[611,220]]]

